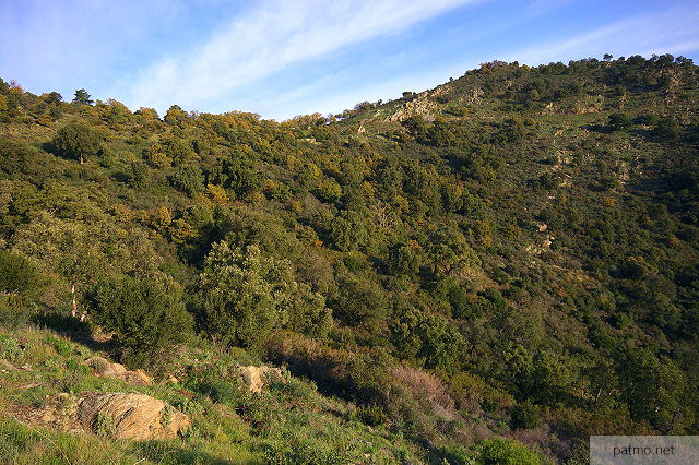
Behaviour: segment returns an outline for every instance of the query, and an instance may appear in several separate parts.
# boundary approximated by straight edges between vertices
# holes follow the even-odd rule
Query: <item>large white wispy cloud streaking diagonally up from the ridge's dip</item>
[[[201,106],[293,63],[400,33],[471,1],[259,1],[205,43],[141,71],[127,104]]]

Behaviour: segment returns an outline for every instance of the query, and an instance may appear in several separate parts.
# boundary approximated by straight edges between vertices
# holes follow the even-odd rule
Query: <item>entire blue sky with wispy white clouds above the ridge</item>
[[[0,76],[70,100],[286,119],[494,59],[699,56],[697,1],[0,0]]]

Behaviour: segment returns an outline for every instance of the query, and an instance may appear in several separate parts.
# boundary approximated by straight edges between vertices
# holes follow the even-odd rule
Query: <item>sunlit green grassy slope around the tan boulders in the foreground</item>
[[[419,463],[427,451],[390,428],[368,427],[352,415],[354,405],[318,393],[311,382],[287,377],[262,394],[238,390],[235,363],[254,362],[248,354],[200,345],[183,361],[181,382],[152,386],[90,373],[84,360],[98,355],[52,330],[0,327],[0,463]],[[196,361],[197,360],[197,361]],[[199,363],[199,365],[198,365]],[[191,369],[194,366],[194,369]],[[209,377],[209,384],[201,379]],[[215,385],[215,393],[211,386]],[[96,433],[61,432],[32,420],[57,394],[141,392],[190,416],[192,429],[171,441],[111,439],[109,418]],[[23,422],[24,421],[24,422]]]

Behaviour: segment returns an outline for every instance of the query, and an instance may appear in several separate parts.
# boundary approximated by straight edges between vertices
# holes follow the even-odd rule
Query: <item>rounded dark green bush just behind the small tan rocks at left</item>
[[[182,289],[169,277],[110,276],[87,295],[94,321],[114,331],[122,358],[139,362],[182,342],[192,332]]]

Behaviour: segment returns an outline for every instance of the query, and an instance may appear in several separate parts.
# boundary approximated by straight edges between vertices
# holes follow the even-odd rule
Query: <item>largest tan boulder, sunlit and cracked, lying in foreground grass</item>
[[[138,393],[87,393],[78,402],[78,419],[95,432],[107,418],[115,439],[173,439],[191,426],[189,417],[170,405]]]

